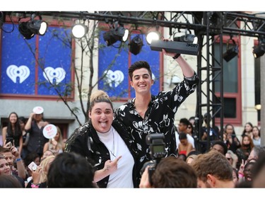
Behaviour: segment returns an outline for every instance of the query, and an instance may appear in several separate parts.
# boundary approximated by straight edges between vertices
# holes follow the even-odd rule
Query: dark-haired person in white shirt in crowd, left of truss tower
[[[177,147],[179,146],[179,133],[184,132],[187,135],[187,141],[192,144],[192,149],[195,149],[194,138],[192,135],[188,133],[188,126],[190,125],[189,120],[187,118],[181,118],[179,120],[179,124],[177,125],[177,131],[175,132],[175,138]]]

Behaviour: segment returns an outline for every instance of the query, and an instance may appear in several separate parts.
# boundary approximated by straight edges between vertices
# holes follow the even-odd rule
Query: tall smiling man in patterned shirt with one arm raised
[[[167,40],[165,40],[167,42]],[[165,135],[165,157],[177,155],[175,140],[175,113],[181,103],[196,90],[199,76],[179,54],[166,52],[163,54],[175,59],[182,69],[184,80],[171,91],[160,92],[157,96],[151,94],[151,67],[146,61],[137,61],[129,67],[131,87],[136,97],[115,110],[115,118],[129,128],[139,151],[138,178],[141,178],[141,168],[146,161],[151,160],[146,144],[146,135],[163,133]]]

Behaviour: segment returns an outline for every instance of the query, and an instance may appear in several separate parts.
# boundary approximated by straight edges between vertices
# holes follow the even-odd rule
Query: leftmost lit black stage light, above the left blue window
[[[42,21],[42,17],[39,16],[39,20],[34,19],[35,14],[30,17],[29,21],[20,22],[18,30],[26,40],[30,40],[34,35],[45,35],[47,30],[47,23]]]

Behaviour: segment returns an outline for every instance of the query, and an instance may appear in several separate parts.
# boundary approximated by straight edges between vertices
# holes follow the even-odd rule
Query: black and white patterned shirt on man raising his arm
[[[152,96],[144,118],[134,107],[135,98],[115,110],[115,118],[128,128],[138,149],[138,166],[140,171],[146,161],[151,160],[146,135],[163,133],[165,135],[165,151],[167,156],[176,156],[175,113],[180,104],[195,91],[199,84],[199,77],[194,72],[191,78],[184,77],[171,91],[162,91],[158,96]]]

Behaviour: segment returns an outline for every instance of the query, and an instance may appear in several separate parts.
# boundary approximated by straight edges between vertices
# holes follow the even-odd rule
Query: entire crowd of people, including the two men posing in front
[[[260,145],[259,127],[247,123],[238,139],[228,124],[222,139],[217,128],[207,132],[204,126],[199,137],[203,142],[198,142],[194,117],[174,125],[177,108],[196,90],[199,77],[181,55],[163,53],[179,64],[181,83],[153,96],[151,67],[145,61],[135,62],[129,77],[136,97],[114,110],[105,91],[94,91],[88,122],[65,143],[59,127],[51,139],[43,134],[49,123],[42,107],[33,108],[27,121],[11,113],[2,130],[0,187],[265,187],[261,177],[265,147]],[[148,135],[163,135],[163,140],[148,140]],[[204,142],[208,137],[209,149]]]

